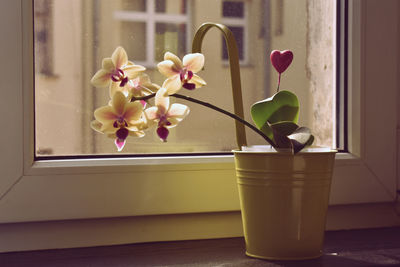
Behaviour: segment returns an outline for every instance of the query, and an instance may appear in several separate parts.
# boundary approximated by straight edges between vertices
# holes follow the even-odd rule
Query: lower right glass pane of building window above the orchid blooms
[[[162,61],[165,52],[183,57],[186,49],[186,25],[157,23],[155,36],[155,60]]]

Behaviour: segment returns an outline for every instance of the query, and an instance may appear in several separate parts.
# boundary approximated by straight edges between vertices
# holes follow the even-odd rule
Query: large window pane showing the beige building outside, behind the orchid
[[[269,53],[290,49],[294,60],[281,89],[295,92],[300,125],[313,129],[316,145],[336,147],[336,1],[319,0],[35,0],[36,156],[229,153],[234,121],[184,100],[190,114],[163,143],[154,129],[127,139],[117,152],[113,139],[93,131],[93,111],[109,101],[108,89],[90,79],[117,46],[147,68],[153,82],[164,77],[156,64],[167,51],[183,57],[204,22],[224,23],[236,36],[241,63],[245,119],[252,103],[274,94],[278,75]],[[248,14],[251,14],[249,16]],[[227,53],[221,33],[204,38],[207,86],[183,94],[232,111]],[[48,74],[51,72],[51,76]],[[184,89],[182,89],[184,90]],[[264,144],[247,131],[249,144]]]

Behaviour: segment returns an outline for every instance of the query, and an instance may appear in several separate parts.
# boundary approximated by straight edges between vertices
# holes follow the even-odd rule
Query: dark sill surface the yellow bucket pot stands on
[[[324,255],[306,261],[245,256],[243,238],[0,254],[0,266],[400,266],[400,227],[330,231]]]

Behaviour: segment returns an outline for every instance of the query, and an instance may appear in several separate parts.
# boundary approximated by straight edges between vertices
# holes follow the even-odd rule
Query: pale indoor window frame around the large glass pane
[[[336,157],[330,204],[393,203],[399,81],[398,57],[390,51],[399,46],[397,26],[391,27],[398,25],[399,9],[396,1],[350,3],[350,153]],[[380,13],[385,14],[385,20]],[[380,41],[380,27],[390,33],[385,33],[385,42]],[[154,241],[163,240],[155,229],[168,223],[161,215],[196,214],[196,218],[203,218],[239,211],[233,156],[229,155],[35,161],[31,1],[0,2],[0,35],[7,36],[0,50],[0,230],[18,222],[129,217],[138,218],[138,223],[143,216],[157,215],[150,216],[153,228],[137,226],[140,238],[130,240]],[[389,56],[382,57],[384,51],[389,51]],[[377,88],[384,88],[385,95]],[[178,215],[173,218],[174,229],[186,229],[180,228]],[[231,224],[240,225],[240,216],[226,217],[223,229],[229,231]],[[144,222],[143,227],[149,225]],[[205,238],[201,234],[207,231],[204,225],[194,223],[193,227],[196,234],[192,235],[189,230],[186,236],[174,235],[177,230],[159,234],[176,239]],[[8,246],[10,241],[0,241],[0,251]]]

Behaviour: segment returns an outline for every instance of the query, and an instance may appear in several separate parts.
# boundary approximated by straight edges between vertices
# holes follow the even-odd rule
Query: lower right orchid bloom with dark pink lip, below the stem
[[[163,142],[167,141],[169,128],[175,127],[188,114],[189,107],[174,103],[169,104],[167,89],[162,87],[155,96],[155,106],[144,111],[149,122],[157,123],[157,134]]]

